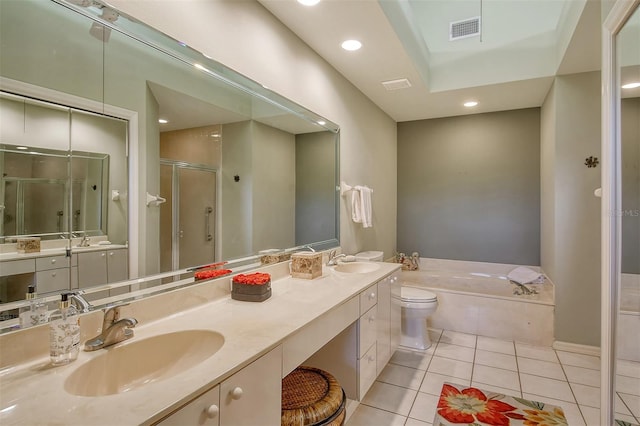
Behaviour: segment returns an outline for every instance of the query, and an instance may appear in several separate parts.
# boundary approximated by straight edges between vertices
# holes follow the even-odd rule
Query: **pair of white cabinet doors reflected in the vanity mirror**
[[[126,248],[78,253],[78,284],[80,288],[124,281],[127,277]]]

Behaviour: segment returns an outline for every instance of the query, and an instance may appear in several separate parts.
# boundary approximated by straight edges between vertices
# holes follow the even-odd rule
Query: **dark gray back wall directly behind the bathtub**
[[[540,109],[398,123],[398,250],[540,264]]]

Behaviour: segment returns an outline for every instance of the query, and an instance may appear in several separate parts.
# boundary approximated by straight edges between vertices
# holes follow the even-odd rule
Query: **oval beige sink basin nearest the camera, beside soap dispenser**
[[[78,367],[64,388],[79,396],[128,392],[174,376],[201,363],[224,345],[215,331],[186,330],[100,349],[101,355]]]

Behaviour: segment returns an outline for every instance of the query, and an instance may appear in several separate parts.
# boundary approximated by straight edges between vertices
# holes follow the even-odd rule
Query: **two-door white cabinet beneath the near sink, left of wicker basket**
[[[161,426],[280,424],[282,346],[156,423]]]

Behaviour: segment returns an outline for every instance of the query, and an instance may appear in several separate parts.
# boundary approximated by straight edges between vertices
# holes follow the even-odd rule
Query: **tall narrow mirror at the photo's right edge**
[[[638,418],[640,362],[640,8],[616,36],[620,94],[621,225],[619,304],[616,335],[615,417],[624,408]],[[620,404],[622,402],[622,404]],[[629,417],[623,417],[629,420]]]

